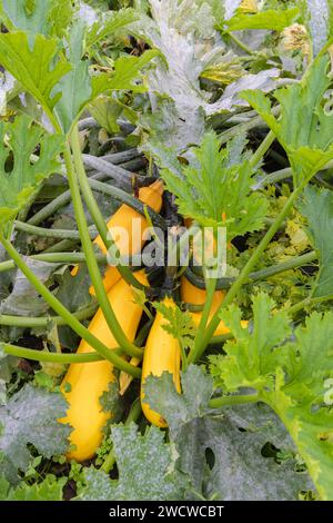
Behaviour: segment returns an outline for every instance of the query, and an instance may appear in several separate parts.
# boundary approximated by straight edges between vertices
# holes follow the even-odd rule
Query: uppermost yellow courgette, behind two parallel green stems
[[[155,181],[149,187],[142,187],[139,190],[140,201],[142,201],[142,204],[148,205],[157,213],[160,213],[162,208],[162,204],[163,204],[162,195],[163,195],[163,182],[161,180]],[[134,219],[138,220],[137,221],[138,229],[141,226],[141,235],[138,234],[135,229],[133,230]],[[114,213],[114,215],[108,223],[108,229],[110,230],[111,234],[113,229],[117,235],[118,227],[121,227],[128,231],[128,239],[129,239],[128,241],[124,236],[120,236],[119,238],[117,238],[113,235],[114,243],[121,256],[134,255],[134,254],[140,253],[144,245],[144,240],[142,239],[142,233],[144,231],[147,227],[149,227],[147,218],[142,216],[140,213],[138,213],[137,210],[132,209],[132,207],[123,204],[118,209],[118,211]],[[100,236],[98,236],[94,239],[94,244],[100,247],[102,253],[107,254],[107,248]],[[113,267],[113,266],[108,267],[104,274],[104,279],[103,279],[105,290],[109,292],[110,288],[119,279],[120,279],[120,274],[117,267]],[[93,287],[90,288],[90,293],[94,296]]]

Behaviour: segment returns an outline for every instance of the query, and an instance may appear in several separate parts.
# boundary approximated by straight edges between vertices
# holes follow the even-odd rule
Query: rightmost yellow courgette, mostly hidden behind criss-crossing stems
[[[209,322],[212,319],[213,315],[215,314],[216,309],[220,307],[221,303],[223,302],[225,293],[223,290],[215,290],[214,298],[212,303],[211,313],[209,316]],[[184,276],[181,278],[181,299],[184,303],[192,304],[192,305],[204,305],[206,298],[206,292],[204,289],[200,289],[195,287],[195,285],[191,284]],[[202,313],[195,312],[190,313],[193,319],[193,323],[196,327],[199,327]],[[242,322],[242,327],[248,327],[248,322]],[[224,334],[230,334],[230,329],[225,326],[224,322],[220,322],[214,336],[222,336]]]

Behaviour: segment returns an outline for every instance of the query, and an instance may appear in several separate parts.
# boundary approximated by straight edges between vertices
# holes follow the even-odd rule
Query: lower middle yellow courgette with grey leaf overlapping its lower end
[[[168,307],[174,307],[174,302],[171,298],[164,298],[164,304]],[[180,366],[181,353],[179,342],[164,330],[163,325],[168,320],[160,313],[157,314],[154,323],[149,333],[147,345],[143,355],[142,379],[141,379],[141,405],[147,420],[158,427],[167,427],[168,424],[163,417],[157,412],[152,411],[147,403],[144,403],[143,384],[148,376],[161,376],[164,372],[173,375],[173,382],[176,391],[181,392],[180,384]]]

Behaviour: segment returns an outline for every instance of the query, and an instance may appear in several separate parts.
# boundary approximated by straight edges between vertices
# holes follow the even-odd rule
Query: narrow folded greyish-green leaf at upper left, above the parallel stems
[[[63,132],[69,132],[92,95],[89,61],[82,60],[85,24],[78,21],[71,28],[68,42],[68,61],[71,70],[61,78],[56,92],[62,93],[54,112]]]

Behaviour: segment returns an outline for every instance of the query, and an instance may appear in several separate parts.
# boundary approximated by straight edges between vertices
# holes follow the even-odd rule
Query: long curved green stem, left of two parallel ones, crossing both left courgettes
[[[128,337],[124,335],[119,324],[119,320],[112,309],[110,300],[108,298],[108,295],[107,295],[101,275],[100,275],[99,266],[94,256],[93,246],[89,236],[85,215],[84,215],[84,208],[82,205],[80,189],[79,189],[79,184],[78,184],[75,171],[73,169],[71,151],[70,151],[70,147],[68,144],[64,150],[64,161],[67,166],[68,181],[69,181],[69,186],[70,186],[71,194],[72,194],[72,204],[73,204],[73,208],[75,213],[78,229],[79,229],[80,237],[81,237],[81,244],[82,244],[82,248],[83,248],[85,259],[87,259],[88,272],[91,278],[91,283],[94,287],[98,302],[103,312],[108,326],[112,335],[114,336],[117,344],[130,356],[141,357],[142,349],[140,349],[133,343],[131,343],[128,339]]]

